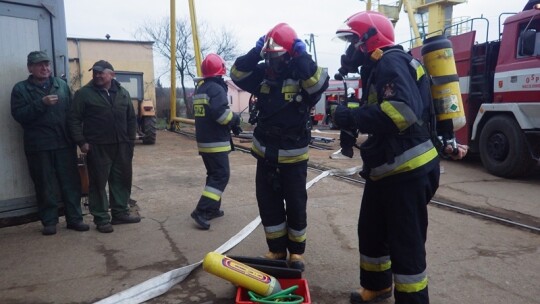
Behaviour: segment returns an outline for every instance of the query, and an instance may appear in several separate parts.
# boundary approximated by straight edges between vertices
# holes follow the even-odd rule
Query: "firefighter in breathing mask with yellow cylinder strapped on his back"
[[[439,154],[432,142],[430,83],[423,66],[394,44],[392,23],[382,14],[349,17],[337,37],[350,43],[348,71],[362,65],[362,106],[337,106],[334,122],[361,145],[366,179],[360,216],[360,285],[351,303],[372,303],[392,295],[395,303],[429,303],[426,273],[427,204],[439,185]],[[362,52],[364,55],[356,55]],[[351,64],[353,62],[354,64]],[[364,100],[365,99],[365,100]],[[349,144],[355,139],[349,137]],[[452,151],[448,146],[443,153]],[[453,158],[467,146],[458,145]]]

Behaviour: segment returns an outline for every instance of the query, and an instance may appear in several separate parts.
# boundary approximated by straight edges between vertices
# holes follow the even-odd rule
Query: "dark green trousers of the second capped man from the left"
[[[105,224],[111,220],[109,207],[112,216],[128,213],[133,175],[133,143],[91,144],[86,160],[90,181],[88,207],[94,216],[94,223]]]

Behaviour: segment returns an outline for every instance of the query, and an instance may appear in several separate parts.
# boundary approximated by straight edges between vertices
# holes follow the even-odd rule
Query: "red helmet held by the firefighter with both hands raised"
[[[298,38],[298,35],[287,23],[274,26],[265,36],[261,57],[265,57],[265,54],[272,57],[281,56],[285,53],[292,55],[296,38]]]

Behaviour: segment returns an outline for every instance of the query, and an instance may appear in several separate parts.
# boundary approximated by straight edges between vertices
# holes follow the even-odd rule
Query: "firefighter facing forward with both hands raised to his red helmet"
[[[286,260],[289,253],[290,266],[303,270],[310,109],[328,87],[328,74],[295,31],[280,23],[236,59],[231,78],[257,97],[251,153],[257,159],[256,196],[269,248],[265,257]]]

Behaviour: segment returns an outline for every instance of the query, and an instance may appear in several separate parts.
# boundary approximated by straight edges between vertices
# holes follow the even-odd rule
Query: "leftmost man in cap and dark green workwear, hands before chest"
[[[68,229],[89,229],[81,212],[77,146],[67,127],[71,92],[63,79],[51,76],[50,61],[45,52],[29,53],[30,76],[11,92],[11,115],[24,129],[24,151],[43,235],[56,234],[59,201],[64,203]]]

